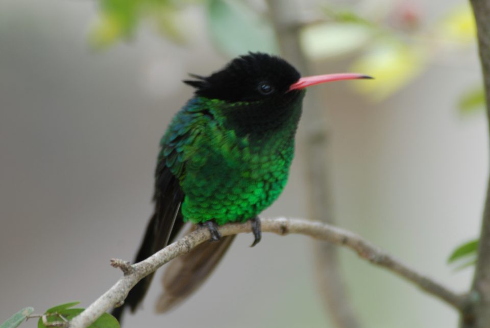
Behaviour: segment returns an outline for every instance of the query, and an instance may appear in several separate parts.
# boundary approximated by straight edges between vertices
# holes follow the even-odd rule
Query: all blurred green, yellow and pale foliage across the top
[[[184,40],[181,13],[204,7],[212,42],[230,57],[249,51],[278,53],[272,23],[266,12],[246,0],[99,0],[100,14],[90,31],[90,42],[106,47],[130,39],[144,20],[164,37]],[[380,10],[366,6],[321,8],[319,19],[305,24],[301,46],[311,60],[348,58],[353,70],[373,75],[371,83],[355,84],[373,100],[393,95],[417,78],[443,52],[474,44],[476,27],[468,2],[452,7],[439,19],[422,24],[416,3],[400,0]],[[381,14],[380,14],[381,13]],[[302,17],[298,17],[299,20]],[[462,113],[479,108],[476,93],[460,100]]]

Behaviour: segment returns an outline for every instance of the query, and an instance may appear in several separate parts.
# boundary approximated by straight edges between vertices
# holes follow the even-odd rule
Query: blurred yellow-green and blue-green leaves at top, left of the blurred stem
[[[166,38],[183,42],[187,26],[182,12],[192,5],[204,6],[211,39],[230,57],[249,51],[278,53],[269,20],[246,2],[233,0],[100,0],[99,17],[90,30],[89,41],[105,48],[121,39],[131,39],[142,21],[149,21]]]

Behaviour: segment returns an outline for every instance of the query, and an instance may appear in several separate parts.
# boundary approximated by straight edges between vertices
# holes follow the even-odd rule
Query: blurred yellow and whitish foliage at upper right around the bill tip
[[[350,8],[325,8],[328,20],[322,23],[322,29],[312,32],[307,27],[303,31],[305,54],[315,60],[354,54],[351,69],[376,77],[369,84],[355,87],[374,100],[383,100],[418,77],[441,52],[475,41],[474,17],[467,2],[427,27],[420,23],[422,13],[412,2],[390,5],[384,16],[372,18]],[[364,33],[353,29],[353,25]]]

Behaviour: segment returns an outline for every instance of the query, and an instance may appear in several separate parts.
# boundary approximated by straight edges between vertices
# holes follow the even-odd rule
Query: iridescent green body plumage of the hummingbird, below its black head
[[[159,155],[185,194],[184,221],[246,221],[277,199],[294,154],[302,98],[295,97],[281,118],[251,124],[247,131],[231,128],[240,111],[258,104],[198,96],[184,106],[163,136]]]

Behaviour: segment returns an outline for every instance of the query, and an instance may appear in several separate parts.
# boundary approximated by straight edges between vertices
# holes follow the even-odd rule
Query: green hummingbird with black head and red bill
[[[338,73],[301,77],[285,60],[249,53],[209,76],[183,81],[193,97],[175,115],[160,141],[155,170],[154,214],[135,262],[174,241],[186,222],[208,229],[204,243],[169,263],[158,312],[174,308],[209,276],[234,236],[218,226],[251,220],[255,246],[261,239],[258,214],[286,185],[305,88],[330,81],[372,79]],[[134,312],[152,281],[146,276],[112,314]]]

